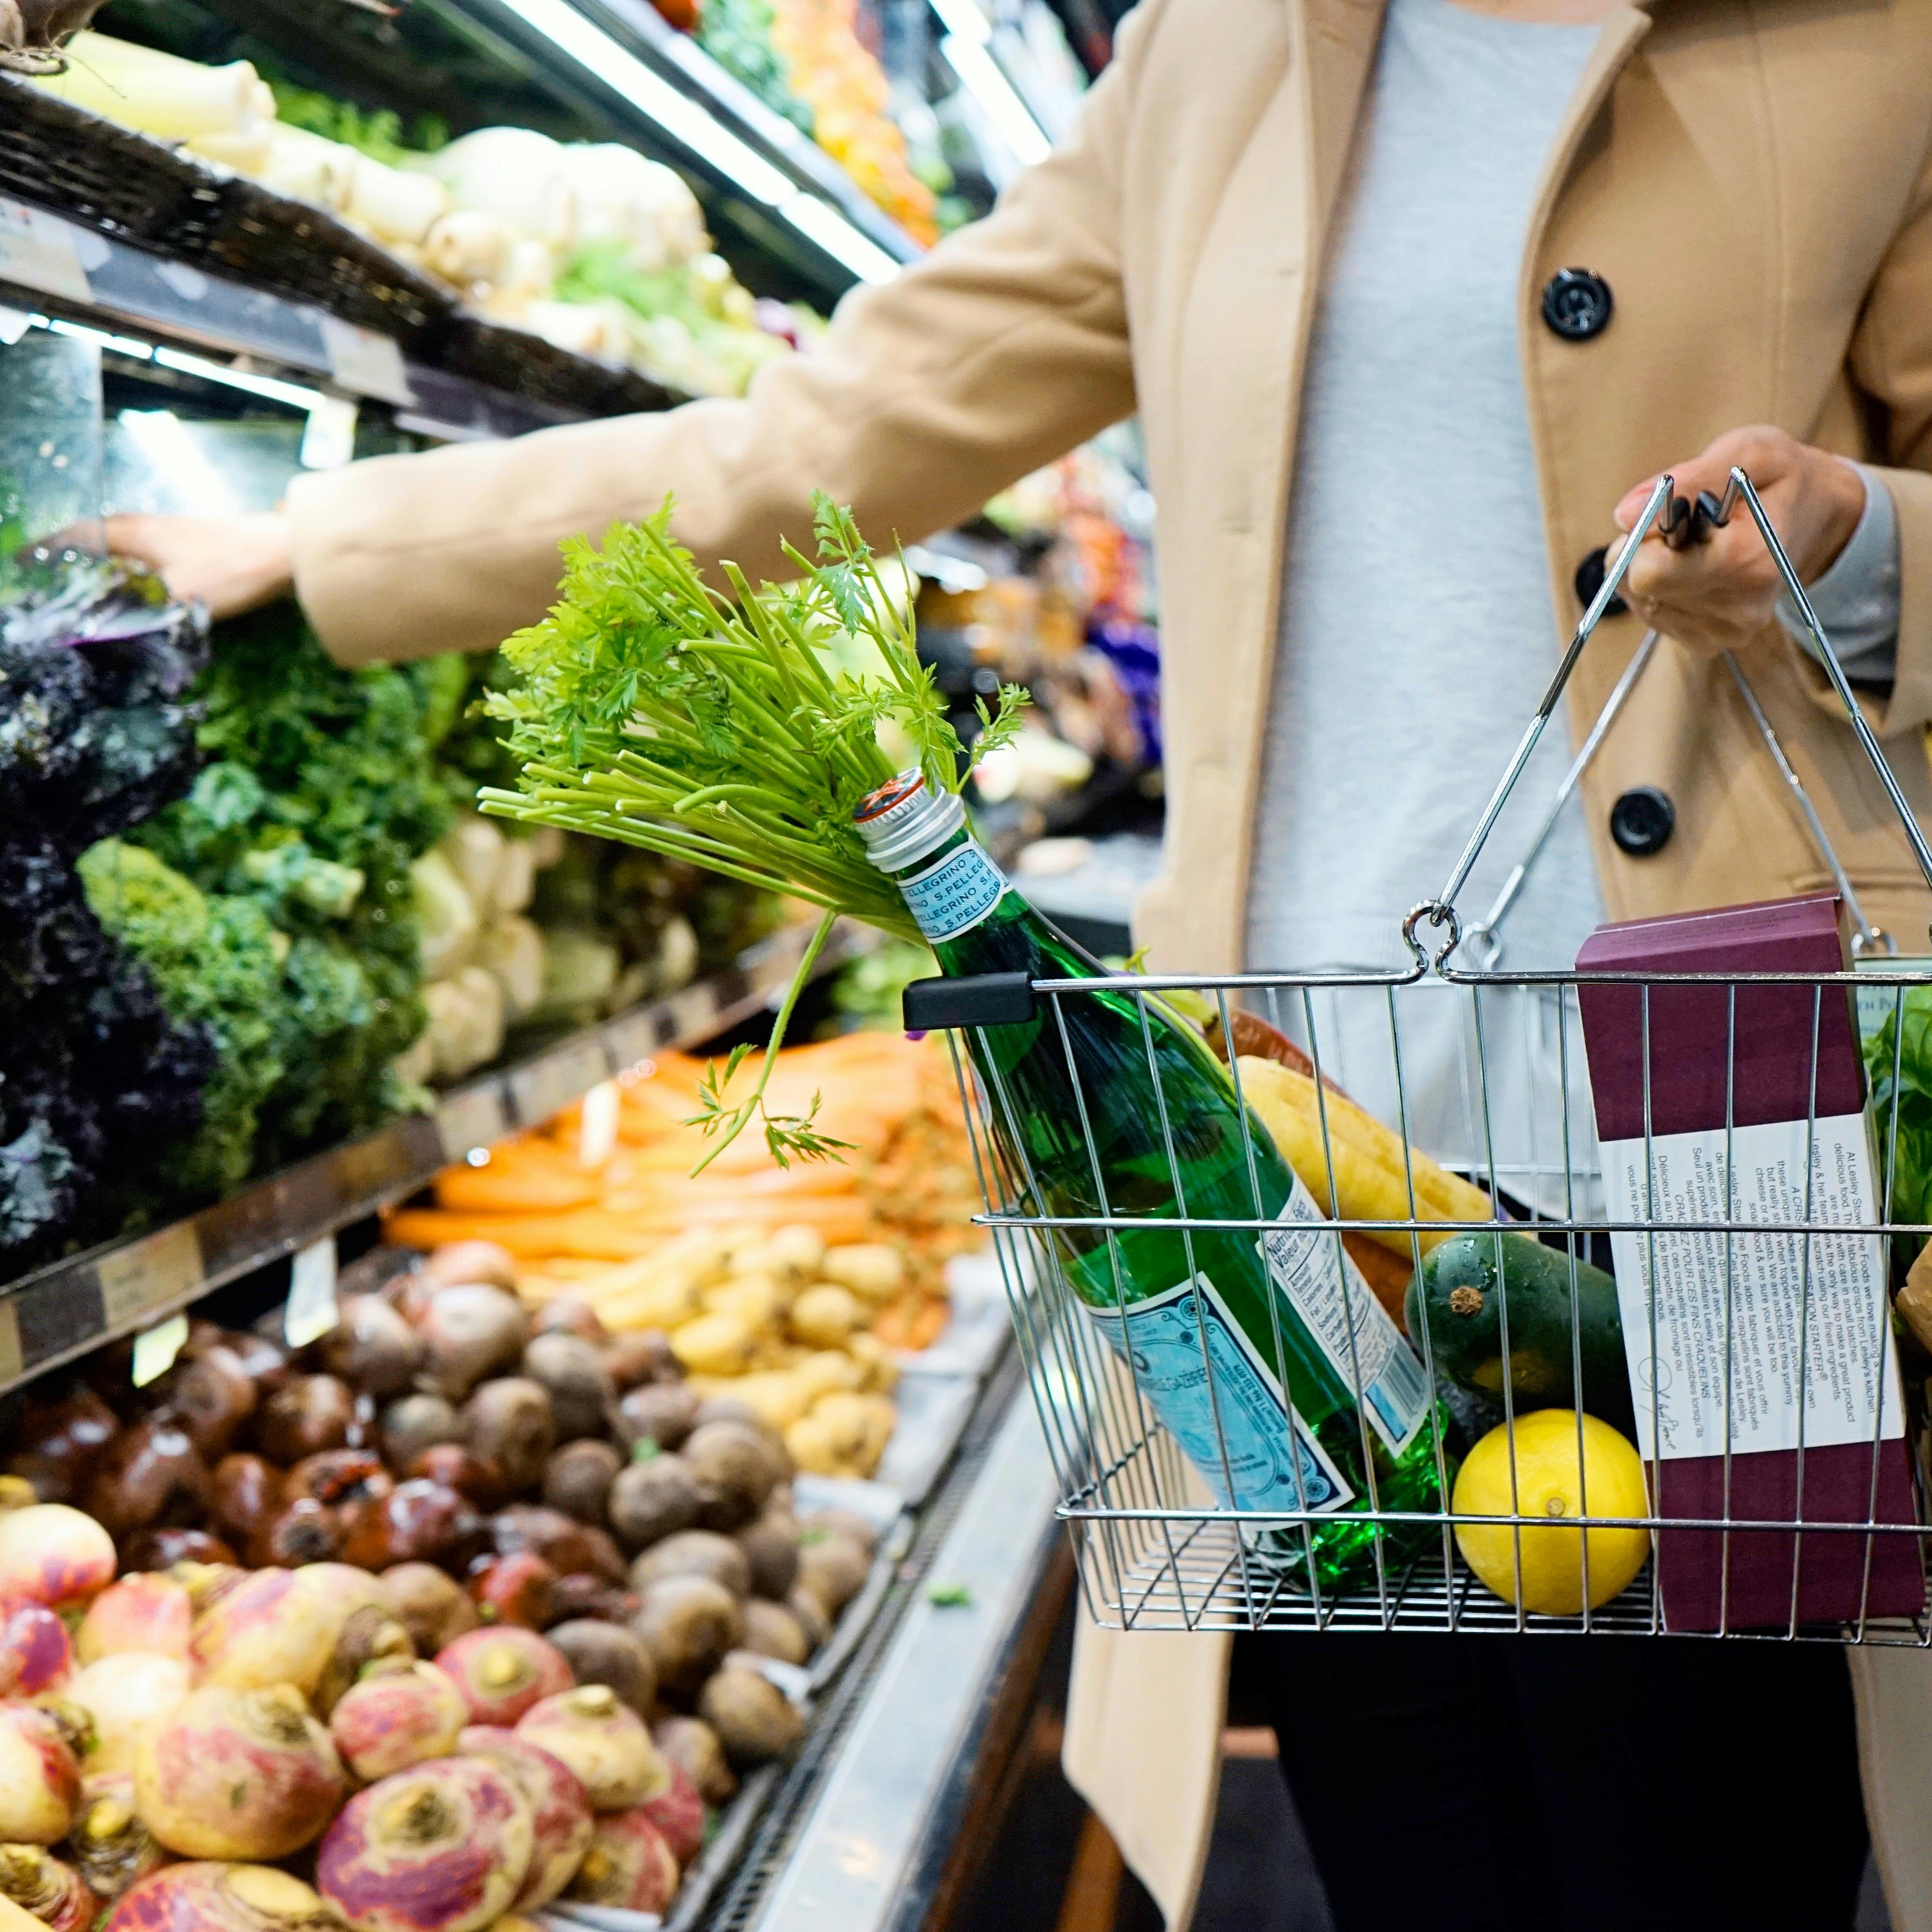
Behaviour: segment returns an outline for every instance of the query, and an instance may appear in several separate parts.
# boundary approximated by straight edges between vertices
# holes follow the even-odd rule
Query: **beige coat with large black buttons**
[[[765,369],[748,400],[301,479],[311,620],[352,663],[497,643],[547,605],[560,537],[665,491],[699,560],[781,576],[777,539],[804,533],[813,487],[914,539],[1138,412],[1169,796],[1167,871],[1138,935],[1161,970],[1238,968],[1302,357],[1379,19],[1381,0],[1142,0],[1068,143],[987,220],[848,296],[823,354]],[[1897,682],[1870,715],[1922,815],[1928,151],[1932,0],[1621,6],[1549,156],[1519,299],[1553,634],[1623,491],[1721,431],[1776,423],[1880,466],[1903,597]],[[1613,290],[1588,340],[1540,315],[1571,267]],[[1611,620],[1584,655],[1573,732],[1636,636]],[[1915,947],[1932,896],[1822,674],[1777,630],[1745,661],[1866,910]],[[1611,802],[1638,784],[1677,808],[1652,858],[1607,837]],[[1582,792],[1613,916],[1826,883],[1725,674],[1675,645]],[[1893,1924],[1932,1932],[1932,1658],[1853,1652],[1853,1675]],[[1223,1681],[1225,1638],[1082,1633],[1066,1768],[1175,1924],[1213,1816]]]

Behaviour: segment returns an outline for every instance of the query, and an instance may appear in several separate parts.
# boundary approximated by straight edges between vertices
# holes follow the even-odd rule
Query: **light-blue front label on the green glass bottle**
[[[1088,1318],[1223,1509],[1331,1511],[1354,1499],[1206,1275]]]

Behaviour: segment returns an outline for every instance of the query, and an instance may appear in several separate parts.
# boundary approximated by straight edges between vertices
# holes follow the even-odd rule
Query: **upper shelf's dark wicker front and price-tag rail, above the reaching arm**
[[[649,377],[469,315],[323,209],[0,75],[0,301],[263,357],[462,435],[668,410]]]

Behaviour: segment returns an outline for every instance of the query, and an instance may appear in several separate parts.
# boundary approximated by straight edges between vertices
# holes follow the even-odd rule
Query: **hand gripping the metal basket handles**
[[[1864,479],[1841,456],[1764,427],[1733,429],[1669,473],[1677,495],[1694,502],[1698,491],[1721,497],[1733,464],[1756,485],[1799,582],[1816,583],[1859,527]],[[1617,504],[1617,529],[1636,526],[1656,481],[1646,477]],[[1781,591],[1772,553],[1743,506],[1706,543],[1683,551],[1646,537],[1623,580],[1625,599],[1646,624],[1712,657],[1764,630]]]

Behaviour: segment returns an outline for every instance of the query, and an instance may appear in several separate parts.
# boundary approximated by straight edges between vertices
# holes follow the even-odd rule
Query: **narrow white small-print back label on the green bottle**
[[[1262,1236],[1262,1260],[1329,1366],[1350,1391],[1358,1391],[1370,1428],[1383,1439],[1389,1455],[1399,1457],[1416,1439],[1430,1412],[1428,1372],[1349,1260],[1335,1231],[1302,1225],[1321,1221],[1321,1209],[1300,1177],[1293,1179],[1294,1186],[1279,1215],[1293,1225],[1273,1227]]]

